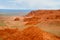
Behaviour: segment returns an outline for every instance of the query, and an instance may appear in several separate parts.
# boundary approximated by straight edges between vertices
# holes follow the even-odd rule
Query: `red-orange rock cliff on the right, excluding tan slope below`
[[[60,10],[36,10],[25,16],[26,25],[47,23],[52,21],[60,22]]]

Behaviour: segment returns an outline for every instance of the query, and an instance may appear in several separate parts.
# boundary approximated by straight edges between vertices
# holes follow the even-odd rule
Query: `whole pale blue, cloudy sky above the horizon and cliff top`
[[[60,9],[60,0],[0,0],[0,9]]]

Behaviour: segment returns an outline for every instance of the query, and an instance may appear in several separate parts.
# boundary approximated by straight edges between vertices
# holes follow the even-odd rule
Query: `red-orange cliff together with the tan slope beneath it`
[[[36,10],[25,15],[26,26],[35,25],[60,36],[60,10]]]

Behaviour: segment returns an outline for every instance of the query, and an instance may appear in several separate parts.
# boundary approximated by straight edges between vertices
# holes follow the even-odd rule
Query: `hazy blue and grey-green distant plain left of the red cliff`
[[[14,10],[14,9],[0,9],[0,16],[5,15],[5,16],[12,16],[12,15],[26,15],[28,12],[31,10]]]

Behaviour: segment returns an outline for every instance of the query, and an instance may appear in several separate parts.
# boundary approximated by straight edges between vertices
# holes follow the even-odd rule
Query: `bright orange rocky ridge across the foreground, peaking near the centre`
[[[0,40],[60,40],[60,38],[31,26],[22,31],[17,28],[0,30]]]

